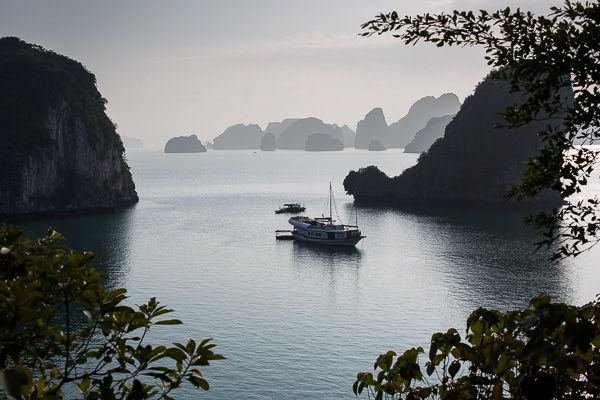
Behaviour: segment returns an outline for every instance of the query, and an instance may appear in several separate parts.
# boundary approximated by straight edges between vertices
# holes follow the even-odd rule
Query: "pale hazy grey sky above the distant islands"
[[[505,6],[545,13],[558,0],[0,0],[0,36],[64,54],[96,75],[121,135],[163,148],[212,141],[235,124],[317,117],[388,124],[424,96],[462,101],[489,72],[477,48],[362,38],[379,12]]]

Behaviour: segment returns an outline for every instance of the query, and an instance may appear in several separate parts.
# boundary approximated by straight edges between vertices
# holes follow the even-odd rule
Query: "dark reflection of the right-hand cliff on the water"
[[[384,249],[401,249],[396,262],[402,264],[404,275],[412,275],[421,287],[442,292],[450,308],[522,308],[540,292],[557,301],[573,301],[572,269],[564,262],[549,262],[548,251],[533,254],[536,234],[524,228],[524,214],[523,210],[367,207],[362,220],[371,221],[369,229],[382,227],[387,238],[378,240],[382,239]]]

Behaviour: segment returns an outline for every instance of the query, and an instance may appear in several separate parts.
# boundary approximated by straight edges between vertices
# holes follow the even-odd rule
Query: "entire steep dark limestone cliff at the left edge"
[[[0,39],[0,218],[138,201],[105,102],[80,63],[18,38]]]

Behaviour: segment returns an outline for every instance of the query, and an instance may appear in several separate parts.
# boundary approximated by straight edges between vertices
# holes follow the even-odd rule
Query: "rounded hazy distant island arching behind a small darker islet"
[[[304,150],[308,137],[322,133],[344,142],[344,134],[337,125],[329,125],[318,118],[303,118],[288,126],[277,138],[277,148],[283,150]]]

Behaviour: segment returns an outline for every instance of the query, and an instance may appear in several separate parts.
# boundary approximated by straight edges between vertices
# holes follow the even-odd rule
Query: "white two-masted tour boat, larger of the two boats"
[[[288,222],[294,226],[294,230],[291,232],[294,239],[334,246],[356,246],[362,238],[366,237],[361,234],[358,224],[336,223],[331,217],[332,204],[334,204],[333,191],[329,184],[329,216],[309,218],[298,215],[290,218]]]

